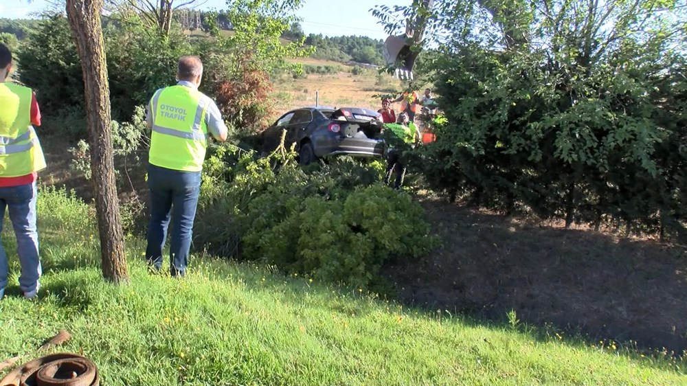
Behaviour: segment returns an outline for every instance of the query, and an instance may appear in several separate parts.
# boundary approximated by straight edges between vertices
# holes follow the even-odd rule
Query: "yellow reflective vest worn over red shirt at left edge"
[[[41,142],[31,126],[32,91],[0,83],[0,177],[21,177],[45,169]]]

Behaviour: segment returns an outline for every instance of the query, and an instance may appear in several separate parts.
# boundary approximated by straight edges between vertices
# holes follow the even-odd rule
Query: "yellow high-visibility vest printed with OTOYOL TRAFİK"
[[[148,162],[161,168],[199,172],[207,149],[205,111],[210,98],[185,86],[159,89],[150,100],[153,134]]]

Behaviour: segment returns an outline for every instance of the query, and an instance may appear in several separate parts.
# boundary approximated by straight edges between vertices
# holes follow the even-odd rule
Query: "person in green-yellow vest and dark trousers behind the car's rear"
[[[418,130],[415,124],[409,121],[408,116],[405,113],[401,113],[398,114],[397,123],[384,125],[382,135],[388,146],[384,184],[389,185],[391,176],[394,170],[396,170],[394,189],[401,189],[407,170],[403,153],[412,149],[418,141]]]

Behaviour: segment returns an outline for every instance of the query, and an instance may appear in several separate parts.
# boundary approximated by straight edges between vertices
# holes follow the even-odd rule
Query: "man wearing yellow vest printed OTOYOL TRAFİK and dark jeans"
[[[153,129],[148,157],[150,223],[146,260],[160,271],[172,206],[170,274],[183,276],[201,190],[201,171],[210,135],[227,140],[227,126],[215,102],[198,91],[203,63],[197,56],[179,58],[177,84],[155,91],[146,121]]]

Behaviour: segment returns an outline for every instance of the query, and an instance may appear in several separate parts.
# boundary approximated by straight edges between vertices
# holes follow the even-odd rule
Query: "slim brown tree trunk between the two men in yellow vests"
[[[118,284],[128,281],[128,274],[112,156],[110,89],[100,25],[102,3],[103,0],[67,0],[67,16],[76,38],[85,84],[102,275]]]

